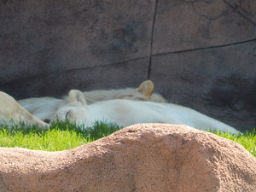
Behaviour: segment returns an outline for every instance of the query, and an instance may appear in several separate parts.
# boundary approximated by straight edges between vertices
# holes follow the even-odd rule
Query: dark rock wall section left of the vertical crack
[[[0,11],[0,84],[12,96],[57,96],[70,88],[104,88],[105,81],[119,87],[147,79],[153,0],[7,0]]]

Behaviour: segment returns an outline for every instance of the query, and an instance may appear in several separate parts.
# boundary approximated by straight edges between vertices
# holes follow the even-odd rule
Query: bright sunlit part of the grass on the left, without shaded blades
[[[45,151],[60,151],[76,148],[84,143],[90,143],[90,137],[83,137],[76,131],[61,131],[53,129],[49,131],[9,131],[0,130],[1,147],[31,148]]]

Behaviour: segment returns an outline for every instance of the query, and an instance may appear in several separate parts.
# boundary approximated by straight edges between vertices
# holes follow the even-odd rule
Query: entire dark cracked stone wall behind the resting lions
[[[137,86],[256,127],[254,0],[1,0],[0,90],[16,99]]]

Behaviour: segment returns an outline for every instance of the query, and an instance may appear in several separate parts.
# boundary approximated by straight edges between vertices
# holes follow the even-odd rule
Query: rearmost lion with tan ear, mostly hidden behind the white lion
[[[166,102],[163,96],[154,93],[154,84],[150,80],[144,81],[137,88],[119,90],[91,90],[83,92],[87,103],[100,102],[112,99],[128,99],[138,101]],[[53,118],[57,109],[67,104],[67,96],[62,99],[54,97],[33,97],[18,101],[23,108],[32,115],[49,121]]]

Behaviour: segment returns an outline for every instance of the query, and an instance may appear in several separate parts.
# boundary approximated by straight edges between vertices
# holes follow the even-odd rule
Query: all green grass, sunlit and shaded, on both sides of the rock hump
[[[101,137],[106,137],[120,127],[114,124],[96,122],[92,127],[78,126],[70,122],[55,122],[49,130],[37,126],[0,125],[0,147],[30,148],[44,151],[60,151],[76,148]],[[216,131],[214,134],[240,143],[256,156],[256,130],[240,135]]]

